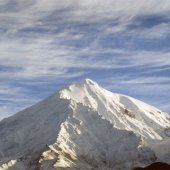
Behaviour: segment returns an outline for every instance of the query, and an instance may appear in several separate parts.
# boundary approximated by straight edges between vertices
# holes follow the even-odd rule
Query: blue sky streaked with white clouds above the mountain
[[[170,113],[169,0],[0,0],[0,119],[85,78]]]

